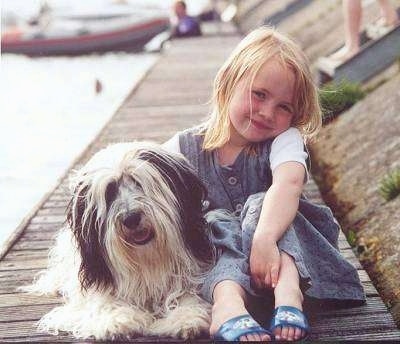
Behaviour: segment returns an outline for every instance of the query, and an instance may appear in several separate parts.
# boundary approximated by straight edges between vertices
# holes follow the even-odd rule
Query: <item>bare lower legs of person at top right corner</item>
[[[378,0],[381,18],[367,28],[370,38],[376,39],[399,25],[396,9],[390,0]],[[360,51],[360,26],[362,16],[361,0],[343,0],[345,44],[337,52],[329,56],[331,60],[344,62]],[[373,32],[372,32],[373,31]]]

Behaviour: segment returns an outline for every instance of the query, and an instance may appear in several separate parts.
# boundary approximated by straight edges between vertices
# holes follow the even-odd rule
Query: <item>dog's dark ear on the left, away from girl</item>
[[[108,185],[105,198],[113,198],[115,186]],[[97,221],[96,203],[89,197],[90,186],[79,184],[67,208],[67,221],[74,234],[81,255],[79,281],[83,289],[114,286],[111,271],[106,263],[106,249],[103,247],[105,231]],[[88,209],[89,206],[92,209]]]

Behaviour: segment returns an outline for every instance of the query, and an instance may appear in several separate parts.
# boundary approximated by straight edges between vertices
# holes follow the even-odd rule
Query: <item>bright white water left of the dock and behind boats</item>
[[[130,0],[168,12],[173,0]],[[110,0],[47,0],[57,12],[101,12]],[[3,0],[2,16],[32,18],[43,0]],[[123,10],[124,5],[120,6]],[[208,1],[187,1],[197,14]],[[0,245],[50,191],[114,114],[157,55],[110,53],[74,58],[2,55]],[[95,82],[102,84],[96,94]]]

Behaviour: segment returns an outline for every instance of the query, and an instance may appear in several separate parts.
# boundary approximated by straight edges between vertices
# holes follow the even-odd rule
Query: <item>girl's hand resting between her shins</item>
[[[276,241],[254,234],[250,252],[251,277],[258,289],[275,288],[281,256]]]

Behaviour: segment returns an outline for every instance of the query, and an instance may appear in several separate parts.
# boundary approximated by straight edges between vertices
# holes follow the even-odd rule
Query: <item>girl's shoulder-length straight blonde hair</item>
[[[279,59],[295,74],[295,115],[291,125],[300,130],[305,140],[317,134],[322,125],[321,108],[305,54],[288,37],[262,26],[243,38],[215,77],[212,112],[203,127],[203,149],[219,148],[229,140],[228,110],[235,88],[243,78],[247,78],[248,86],[251,86],[259,69],[271,58]]]

